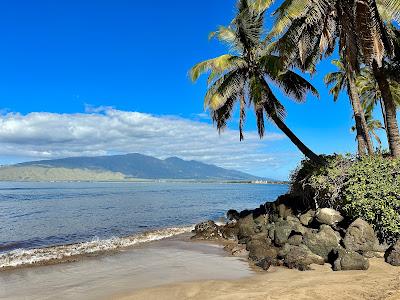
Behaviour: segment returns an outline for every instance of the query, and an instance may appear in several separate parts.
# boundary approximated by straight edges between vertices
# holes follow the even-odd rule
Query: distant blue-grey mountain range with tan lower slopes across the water
[[[50,172],[51,170],[51,172]],[[67,172],[66,172],[67,171]],[[24,172],[25,179],[40,180],[85,180],[80,177],[126,179],[192,179],[192,180],[261,180],[236,170],[228,170],[198,161],[187,161],[178,157],[158,159],[138,153],[96,157],[69,157],[54,160],[31,161],[0,168],[0,180],[23,180],[18,173]],[[62,172],[62,173],[61,173]],[[79,174],[78,174],[79,173]],[[13,174],[13,175],[10,175]],[[47,174],[47,175],[46,175]],[[66,175],[67,174],[67,175]],[[106,176],[107,175],[107,176]],[[14,178],[17,177],[17,178]]]

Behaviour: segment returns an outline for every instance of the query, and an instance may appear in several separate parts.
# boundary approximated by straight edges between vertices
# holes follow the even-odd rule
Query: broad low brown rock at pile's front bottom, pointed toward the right
[[[323,265],[325,260],[310,251],[306,246],[289,246],[284,265],[290,269],[308,270],[311,264]]]

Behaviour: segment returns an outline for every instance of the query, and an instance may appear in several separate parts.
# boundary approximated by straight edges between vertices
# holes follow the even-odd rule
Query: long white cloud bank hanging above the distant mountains
[[[248,132],[239,142],[236,130],[218,135],[207,123],[178,117],[88,107],[86,113],[0,115],[0,158],[47,159],[138,152],[159,158],[178,156],[222,167],[255,170],[277,167],[279,155],[268,154],[281,134],[263,140]]]

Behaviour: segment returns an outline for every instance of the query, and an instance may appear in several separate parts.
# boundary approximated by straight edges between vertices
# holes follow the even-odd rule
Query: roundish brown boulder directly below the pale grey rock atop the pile
[[[318,232],[310,230],[305,233],[304,244],[315,254],[328,261],[329,253],[339,247],[340,236],[328,225],[321,225]]]

